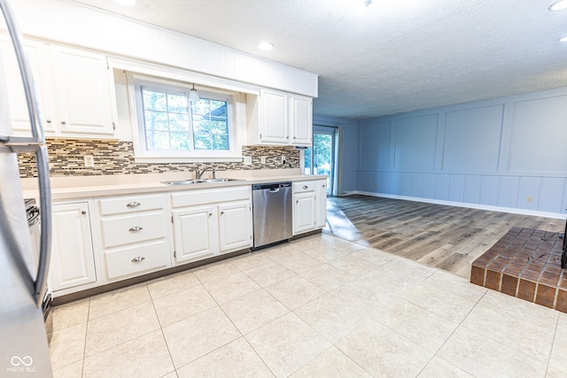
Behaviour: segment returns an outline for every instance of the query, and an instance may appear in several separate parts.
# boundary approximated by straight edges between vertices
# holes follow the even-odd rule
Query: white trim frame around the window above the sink
[[[214,89],[202,87],[195,84],[199,93],[210,94],[214,98],[229,102],[229,150],[146,150],[143,109],[141,104],[140,85],[152,86],[161,84],[176,88],[191,89],[193,83],[170,81],[167,79],[143,76],[136,73],[127,73],[128,96],[130,98],[130,123],[132,129],[132,141],[134,143],[134,158],[139,163],[194,163],[194,162],[240,162],[242,161],[242,133],[238,125],[237,111],[235,110],[235,96],[237,93],[226,89]]]

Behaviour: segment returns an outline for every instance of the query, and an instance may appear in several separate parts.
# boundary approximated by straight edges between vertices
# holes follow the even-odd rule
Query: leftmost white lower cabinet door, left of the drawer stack
[[[52,222],[50,289],[96,282],[89,204],[55,204]]]

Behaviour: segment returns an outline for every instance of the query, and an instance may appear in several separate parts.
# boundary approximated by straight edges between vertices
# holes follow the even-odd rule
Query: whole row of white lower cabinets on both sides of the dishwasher
[[[324,227],[326,181],[294,182],[293,201],[293,235]],[[248,184],[95,197],[52,212],[53,297],[252,247]]]

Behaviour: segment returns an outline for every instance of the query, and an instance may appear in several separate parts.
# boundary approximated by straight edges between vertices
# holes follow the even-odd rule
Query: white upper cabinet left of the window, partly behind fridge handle
[[[46,136],[109,138],[114,135],[113,70],[106,57],[85,50],[24,40]],[[0,35],[10,115],[15,134],[29,135],[29,116],[18,63],[8,35]]]

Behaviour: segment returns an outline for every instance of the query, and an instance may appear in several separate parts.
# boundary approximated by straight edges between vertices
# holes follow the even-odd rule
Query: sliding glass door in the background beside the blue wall
[[[305,174],[326,174],[327,195],[333,193],[335,166],[335,127],[315,126],[313,145],[305,150]]]

